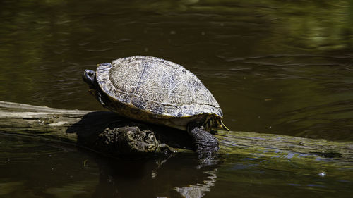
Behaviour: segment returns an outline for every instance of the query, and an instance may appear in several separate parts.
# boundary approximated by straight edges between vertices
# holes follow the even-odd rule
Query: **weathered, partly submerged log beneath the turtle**
[[[109,111],[64,110],[0,101],[0,131],[66,142],[108,155],[193,151],[191,138],[184,131],[136,123]],[[353,142],[232,131],[217,131],[215,137],[220,142],[220,154],[353,162]]]

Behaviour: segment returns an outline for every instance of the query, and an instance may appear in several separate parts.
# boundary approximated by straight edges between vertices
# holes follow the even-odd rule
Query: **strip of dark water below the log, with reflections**
[[[0,197],[349,197],[345,163],[195,154],[109,159],[1,135]],[[322,173],[325,173],[324,175]],[[290,192],[290,193],[289,193]]]

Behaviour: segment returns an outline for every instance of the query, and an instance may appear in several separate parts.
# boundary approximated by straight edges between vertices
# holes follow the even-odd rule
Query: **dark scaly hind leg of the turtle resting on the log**
[[[192,137],[198,154],[213,154],[220,148],[215,136],[203,130],[202,126],[188,125],[188,132]]]

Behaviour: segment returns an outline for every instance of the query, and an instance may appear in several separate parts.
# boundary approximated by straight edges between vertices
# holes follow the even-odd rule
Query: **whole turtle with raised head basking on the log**
[[[216,152],[212,128],[229,130],[213,94],[183,66],[152,56],[119,58],[84,70],[97,101],[120,116],[186,130],[196,151]]]

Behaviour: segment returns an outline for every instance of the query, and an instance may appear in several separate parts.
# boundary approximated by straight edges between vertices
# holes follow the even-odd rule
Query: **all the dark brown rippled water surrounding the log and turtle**
[[[352,1],[2,0],[0,25],[1,101],[103,110],[83,69],[157,56],[198,75],[232,130],[353,140]],[[244,156],[201,168],[193,155],[107,161],[0,138],[0,197],[353,194],[343,168]]]

